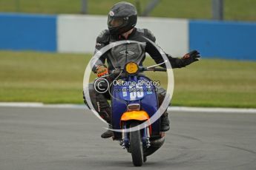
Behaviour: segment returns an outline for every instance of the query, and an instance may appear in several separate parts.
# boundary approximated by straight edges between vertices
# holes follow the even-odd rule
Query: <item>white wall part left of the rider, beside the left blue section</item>
[[[106,28],[100,16],[59,15],[57,18],[58,52],[90,52],[96,36]]]

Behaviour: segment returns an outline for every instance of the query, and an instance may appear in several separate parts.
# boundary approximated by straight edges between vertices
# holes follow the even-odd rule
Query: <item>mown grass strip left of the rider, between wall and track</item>
[[[86,55],[0,52],[0,101],[81,103]]]

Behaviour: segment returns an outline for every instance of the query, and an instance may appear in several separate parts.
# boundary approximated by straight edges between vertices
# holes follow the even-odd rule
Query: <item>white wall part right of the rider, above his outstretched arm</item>
[[[188,52],[188,20],[138,18],[137,27],[151,30],[157,38],[156,43],[174,57]]]

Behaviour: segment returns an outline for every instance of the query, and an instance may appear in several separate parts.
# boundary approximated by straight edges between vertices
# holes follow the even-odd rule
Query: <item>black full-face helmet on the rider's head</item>
[[[122,1],[108,13],[108,30],[111,34],[122,34],[131,30],[137,23],[137,10],[133,4]]]

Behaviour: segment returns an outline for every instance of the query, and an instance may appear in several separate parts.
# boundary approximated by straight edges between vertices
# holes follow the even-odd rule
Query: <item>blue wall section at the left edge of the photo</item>
[[[0,13],[0,50],[56,52],[56,16]]]

